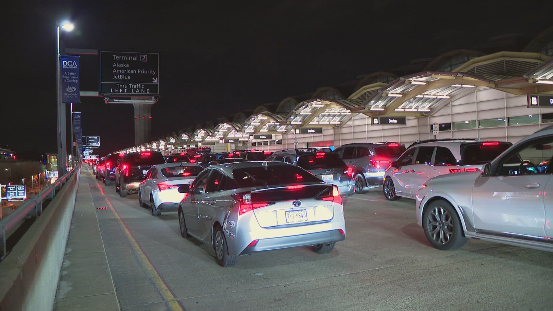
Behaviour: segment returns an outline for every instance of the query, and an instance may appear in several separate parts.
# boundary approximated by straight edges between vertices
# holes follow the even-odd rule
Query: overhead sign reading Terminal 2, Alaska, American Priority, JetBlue
[[[159,54],[100,51],[100,94],[158,95]]]

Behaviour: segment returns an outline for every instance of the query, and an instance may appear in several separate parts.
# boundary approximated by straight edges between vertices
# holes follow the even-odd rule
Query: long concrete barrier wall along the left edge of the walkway
[[[76,172],[0,262],[0,310],[52,310],[79,186]]]

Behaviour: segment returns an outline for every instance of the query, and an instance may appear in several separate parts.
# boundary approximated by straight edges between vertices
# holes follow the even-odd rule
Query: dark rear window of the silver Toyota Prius
[[[239,168],[233,170],[232,175],[240,188],[321,182],[315,175],[295,165]]]

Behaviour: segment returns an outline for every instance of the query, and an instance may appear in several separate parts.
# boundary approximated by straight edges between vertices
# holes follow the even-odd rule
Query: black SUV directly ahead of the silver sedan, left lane
[[[123,155],[115,170],[115,191],[125,198],[131,191],[138,191],[144,175],[155,164],[165,163],[159,151],[131,152]]]

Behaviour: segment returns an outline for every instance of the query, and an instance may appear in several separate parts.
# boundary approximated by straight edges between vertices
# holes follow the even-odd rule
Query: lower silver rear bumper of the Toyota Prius
[[[338,229],[310,234],[273,237],[270,239],[260,239],[252,247],[246,247],[239,255],[247,255],[254,252],[280,250],[281,248],[312,246],[322,243],[339,242],[346,239],[346,235],[340,233]]]

